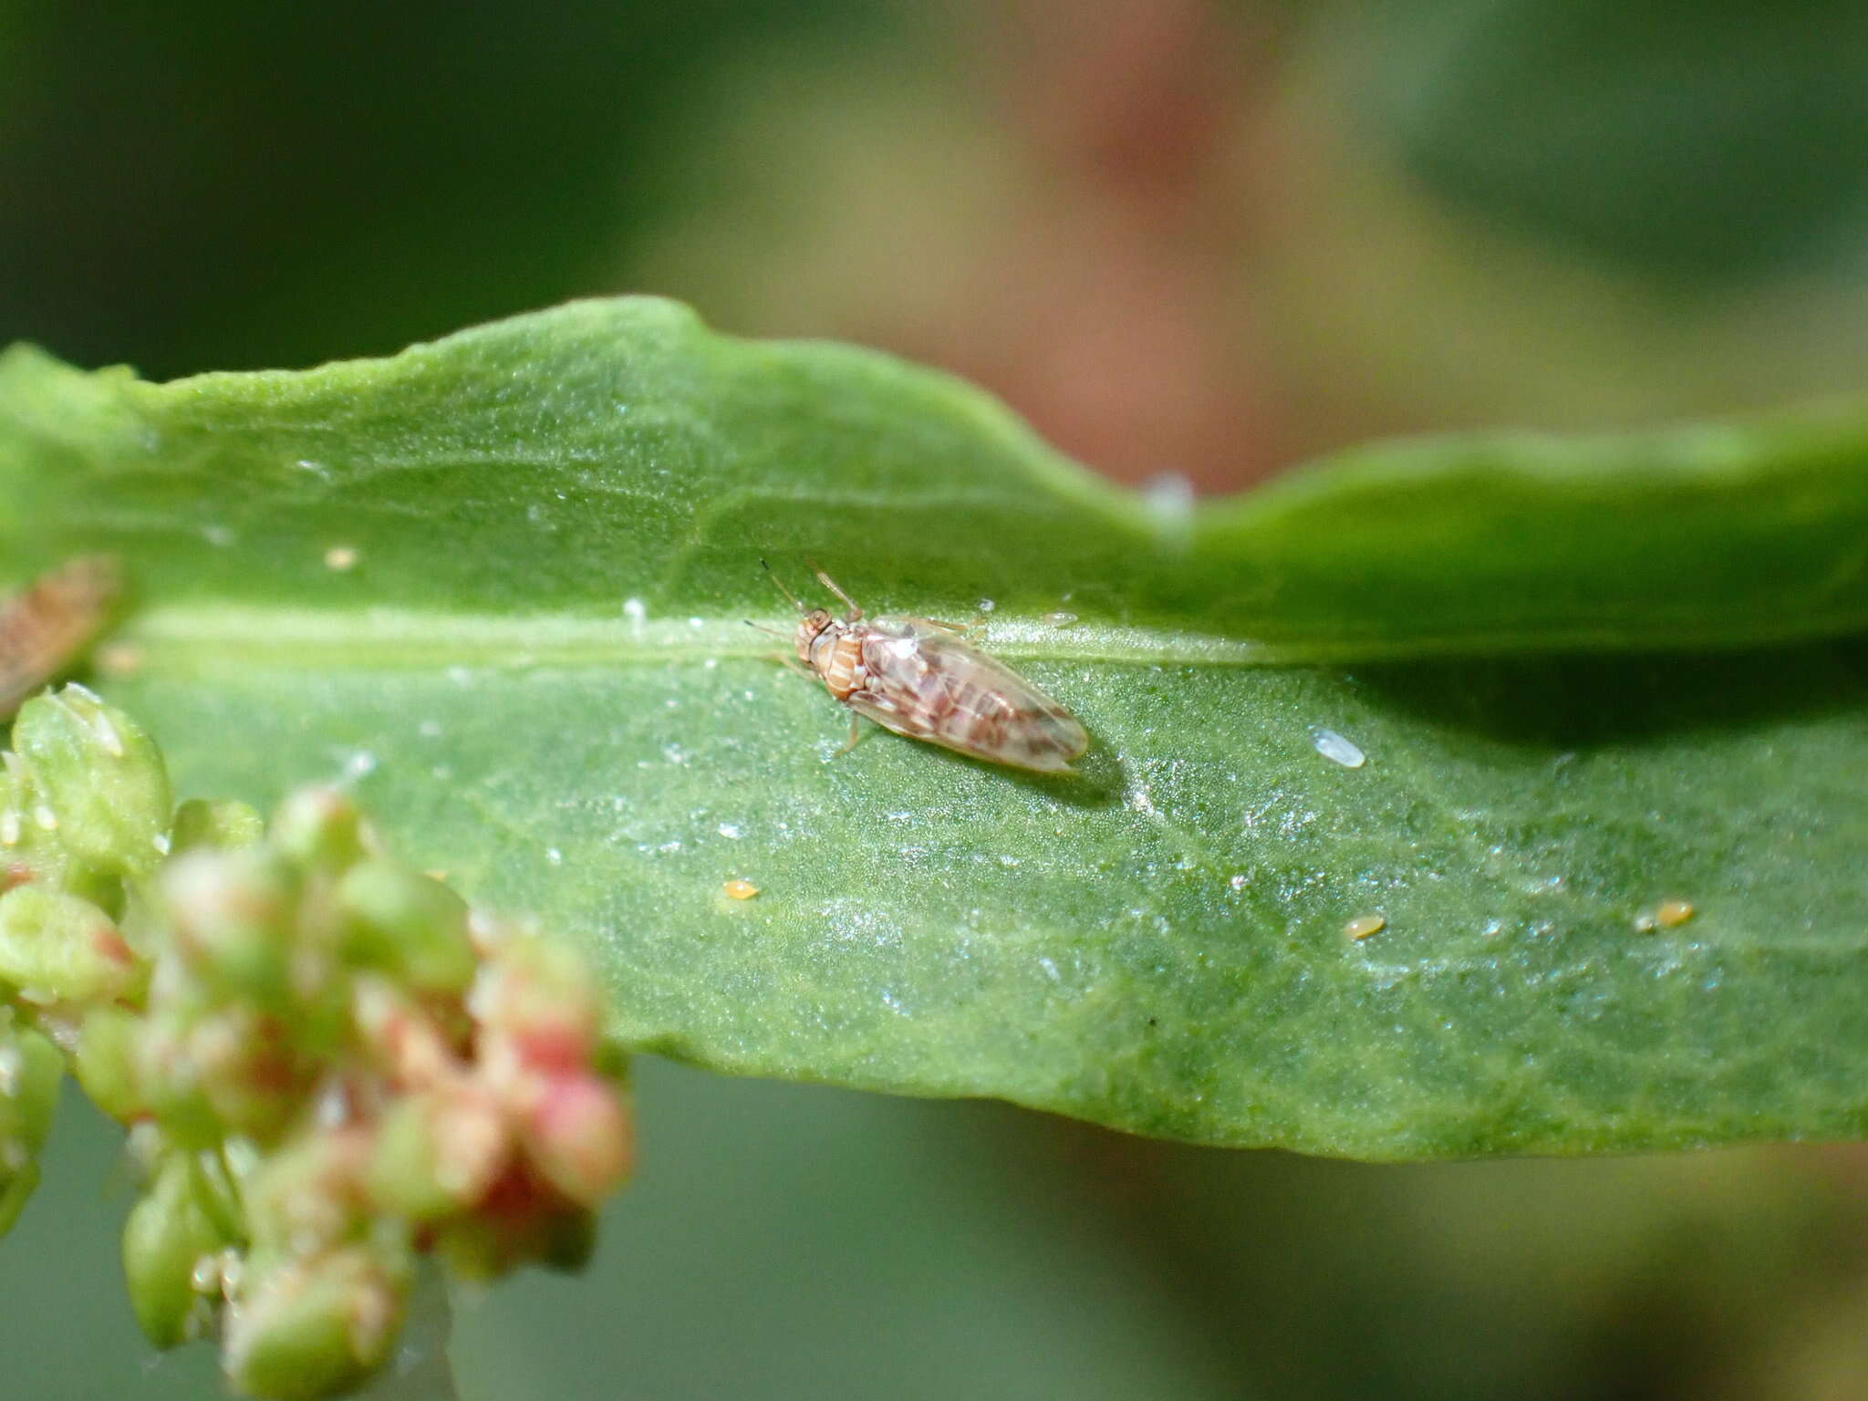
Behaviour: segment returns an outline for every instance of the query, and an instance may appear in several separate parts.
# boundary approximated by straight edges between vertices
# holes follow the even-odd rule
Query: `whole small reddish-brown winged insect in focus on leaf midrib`
[[[770,564],[766,572],[771,573]],[[807,607],[777,575],[771,583],[803,615],[792,637],[798,661],[785,658],[785,663],[824,682],[826,691],[856,712],[844,751],[856,745],[867,717],[910,740],[992,764],[1076,773],[1070,766],[1089,747],[1076,715],[1003,661],[962,641],[964,626],[910,616],[865,618],[824,570],[816,570],[816,577],[848,607],[841,618]]]

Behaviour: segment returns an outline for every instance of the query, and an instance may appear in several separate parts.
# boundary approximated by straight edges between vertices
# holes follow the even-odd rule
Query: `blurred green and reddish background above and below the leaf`
[[[609,291],[949,366],[1125,480],[1868,383],[1857,0],[0,0],[0,344],[155,377]],[[67,1106],[0,1392],[217,1395]],[[1358,1166],[648,1063],[461,1394],[1859,1397],[1868,1156]]]

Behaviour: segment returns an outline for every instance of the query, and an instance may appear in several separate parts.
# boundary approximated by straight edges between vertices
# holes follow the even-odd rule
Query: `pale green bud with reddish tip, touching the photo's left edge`
[[[41,885],[0,895],[0,984],[22,1001],[106,1003],[140,992],[148,973],[90,900]]]

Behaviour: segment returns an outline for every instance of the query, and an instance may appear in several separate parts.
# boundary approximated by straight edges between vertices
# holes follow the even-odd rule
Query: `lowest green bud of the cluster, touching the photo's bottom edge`
[[[389,1360],[409,1268],[351,1246],[267,1270],[228,1315],[226,1375],[267,1401],[318,1401]]]

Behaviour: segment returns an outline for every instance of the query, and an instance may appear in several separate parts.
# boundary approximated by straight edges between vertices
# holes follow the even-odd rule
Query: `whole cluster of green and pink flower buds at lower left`
[[[390,1354],[417,1259],[579,1265],[630,1171],[581,962],[471,912],[312,788],[273,822],[172,807],[80,687],[0,773],[0,1231],[62,1067],[131,1128],[123,1231],[153,1343],[219,1332],[235,1388],[321,1397]]]

